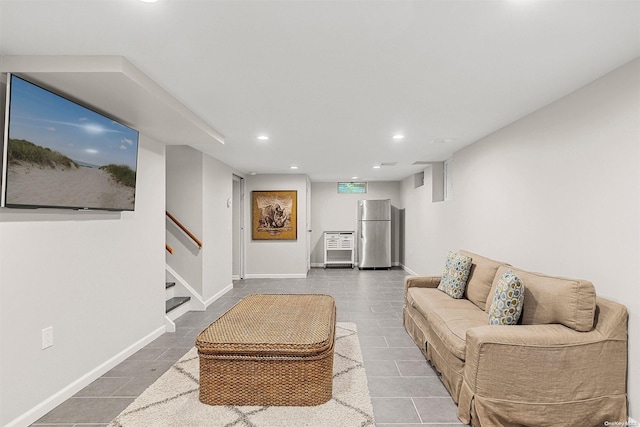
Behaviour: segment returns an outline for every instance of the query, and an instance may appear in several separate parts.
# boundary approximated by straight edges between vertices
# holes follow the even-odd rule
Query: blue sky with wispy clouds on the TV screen
[[[25,139],[91,166],[136,170],[138,132],[16,76],[11,80],[9,138]]]

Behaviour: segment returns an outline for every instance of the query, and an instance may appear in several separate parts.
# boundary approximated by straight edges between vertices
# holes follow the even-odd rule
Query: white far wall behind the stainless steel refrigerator
[[[391,262],[399,263],[400,182],[371,181],[367,194],[338,194],[337,182],[311,183],[311,264],[324,265],[325,231],[356,231],[358,200],[391,199]]]

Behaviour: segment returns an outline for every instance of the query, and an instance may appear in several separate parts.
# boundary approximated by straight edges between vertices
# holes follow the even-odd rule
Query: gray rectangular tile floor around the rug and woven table
[[[253,293],[334,296],[338,321],[358,327],[378,427],[459,425],[456,405],[402,326],[405,275],[400,269],[313,268],[306,279],[236,281],[207,311],[185,314],[175,333],[162,335],[33,425],[106,426],[193,347],[202,329]]]

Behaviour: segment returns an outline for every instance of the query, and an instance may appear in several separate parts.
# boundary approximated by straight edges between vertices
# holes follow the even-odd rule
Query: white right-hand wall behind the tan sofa
[[[447,250],[591,280],[629,310],[630,416],[640,418],[640,60],[453,157],[453,201],[402,182],[406,265]],[[425,181],[427,181],[425,174]]]

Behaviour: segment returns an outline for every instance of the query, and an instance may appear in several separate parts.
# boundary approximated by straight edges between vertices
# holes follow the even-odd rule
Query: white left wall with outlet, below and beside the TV
[[[164,332],[164,145],[144,135],[137,176],[134,212],[0,209],[0,425]]]

